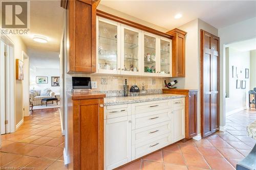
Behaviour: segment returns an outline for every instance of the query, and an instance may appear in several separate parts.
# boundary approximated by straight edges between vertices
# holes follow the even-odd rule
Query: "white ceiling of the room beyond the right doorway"
[[[245,40],[245,41],[234,42],[226,46],[234,48],[240,52],[256,50],[256,38]]]

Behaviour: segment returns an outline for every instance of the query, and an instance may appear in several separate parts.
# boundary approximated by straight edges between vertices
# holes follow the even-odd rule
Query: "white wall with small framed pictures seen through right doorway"
[[[229,98],[226,98],[226,115],[229,115],[248,106],[250,79],[245,79],[245,68],[250,69],[250,52],[240,52],[232,47],[226,50],[229,51]],[[232,66],[238,68],[238,78],[232,78]],[[237,89],[237,80],[245,80],[246,89]]]

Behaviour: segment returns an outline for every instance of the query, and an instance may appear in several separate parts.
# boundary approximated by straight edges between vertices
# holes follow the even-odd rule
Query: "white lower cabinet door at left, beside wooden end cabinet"
[[[105,169],[114,169],[131,161],[131,116],[104,120]]]

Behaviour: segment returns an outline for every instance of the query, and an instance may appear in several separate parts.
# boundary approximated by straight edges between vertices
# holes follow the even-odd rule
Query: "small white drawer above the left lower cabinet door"
[[[130,105],[114,105],[104,107],[104,119],[127,116],[131,114]]]

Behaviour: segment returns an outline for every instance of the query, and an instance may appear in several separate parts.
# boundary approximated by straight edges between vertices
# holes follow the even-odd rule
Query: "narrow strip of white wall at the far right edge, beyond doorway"
[[[250,90],[256,87],[256,50],[250,51]]]

